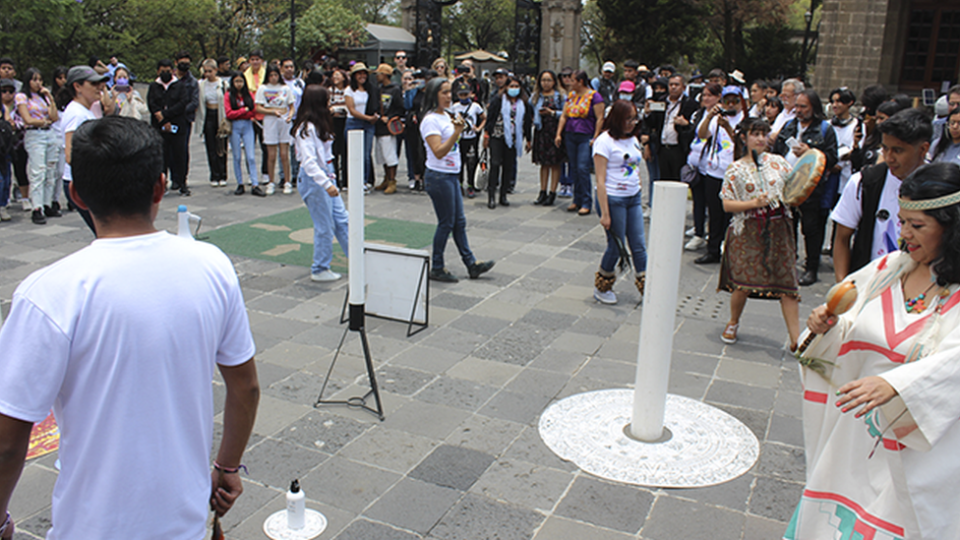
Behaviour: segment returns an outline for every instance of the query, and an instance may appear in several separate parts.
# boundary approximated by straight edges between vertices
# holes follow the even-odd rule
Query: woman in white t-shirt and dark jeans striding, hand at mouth
[[[433,210],[437,214],[437,230],[433,235],[433,257],[430,279],[456,283],[457,277],[443,265],[443,251],[447,238],[453,233],[453,241],[460,251],[460,258],[467,267],[470,279],[493,268],[493,261],[477,261],[467,242],[467,218],[463,215],[463,195],[460,192],[460,149],[458,141],[466,127],[459,114],[452,120],[450,108],[450,82],[443,77],[434,77],[424,88],[420,136],[427,150],[427,168],[424,183]]]

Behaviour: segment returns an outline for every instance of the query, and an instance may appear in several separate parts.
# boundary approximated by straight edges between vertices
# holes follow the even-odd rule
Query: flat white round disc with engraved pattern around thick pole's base
[[[624,434],[633,390],[600,390],[558,401],[540,416],[540,437],[584,471],[640,486],[692,488],[733,480],[760,454],[739,420],[694,399],[667,394],[664,427],[672,437],[645,443]]]

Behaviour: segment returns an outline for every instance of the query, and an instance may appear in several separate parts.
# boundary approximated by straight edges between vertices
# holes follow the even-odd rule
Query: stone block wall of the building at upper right
[[[824,0],[812,83],[821,95],[871,84],[896,90],[909,0]]]

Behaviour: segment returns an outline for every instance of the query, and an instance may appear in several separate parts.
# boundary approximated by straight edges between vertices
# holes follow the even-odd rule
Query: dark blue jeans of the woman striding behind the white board
[[[427,169],[423,174],[427,194],[437,214],[437,231],[433,234],[434,270],[443,268],[443,250],[453,233],[453,242],[460,251],[460,259],[467,267],[477,261],[467,242],[467,217],[463,215],[463,195],[460,193],[460,175]]]

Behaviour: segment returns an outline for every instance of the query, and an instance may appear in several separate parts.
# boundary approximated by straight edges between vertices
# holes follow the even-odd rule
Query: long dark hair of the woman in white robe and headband
[[[960,168],[953,163],[931,163],[913,171],[900,185],[900,197],[911,201],[936,199],[960,191]],[[937,284],[960,283],[960,203],[924,210],[943,227],[940,257],[930,266]]]

